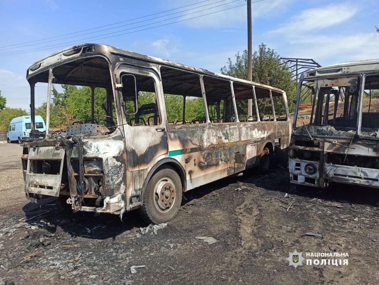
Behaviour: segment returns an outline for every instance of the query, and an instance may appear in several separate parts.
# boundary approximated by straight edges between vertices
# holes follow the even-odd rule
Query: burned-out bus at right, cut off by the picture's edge
[[[379,187],[378,151],[379,60],[302,73],[289,151],[291,182]]]

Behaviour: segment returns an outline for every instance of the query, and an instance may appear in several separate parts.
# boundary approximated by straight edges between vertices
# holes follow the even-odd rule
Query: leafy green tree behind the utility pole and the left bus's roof
[[[252,55],[252,81],[273,86],[287,93],[288,108],[294,110],[297,84],[291,79],[292,73],[287,64],[281,64],[280,56],[264,43]],[[247,50],[237,52],[235,62],[228,59],[227,65],[221,68],[222,74],[247,79]]]

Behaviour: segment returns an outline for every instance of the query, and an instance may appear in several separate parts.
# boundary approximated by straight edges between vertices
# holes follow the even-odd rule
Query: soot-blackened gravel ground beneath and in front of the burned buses
[[[177,217],[154,234],[135,212],[121,221],[72,214],[55,199],[27,203],[21,169],[1,170],[0,284],[378,284],[377,191],[288,180],[277,168],[189,191]],[[294,268],[287,258],[295,249],[304,258],[347,252],[349,264]],[[145,267],[132,274],[136,265]]]

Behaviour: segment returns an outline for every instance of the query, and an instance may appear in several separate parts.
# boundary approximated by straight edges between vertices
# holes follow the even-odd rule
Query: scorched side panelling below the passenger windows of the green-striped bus
[[[249,166],[267,141],[283,136],[281,144],[288,146],[289,131],[290,122],[168,125],[169,156],[183,165],[191,189],[243,171],[246,144],[256,143],[254,153],[249,150]]]

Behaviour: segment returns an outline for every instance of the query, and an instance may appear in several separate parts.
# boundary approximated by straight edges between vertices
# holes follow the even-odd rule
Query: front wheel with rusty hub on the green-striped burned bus
[[[140,215],[147,223],[165,223],[172,220],[182,203],[182,181],[170,166],[161,168],[147,184]]]

